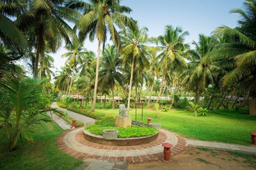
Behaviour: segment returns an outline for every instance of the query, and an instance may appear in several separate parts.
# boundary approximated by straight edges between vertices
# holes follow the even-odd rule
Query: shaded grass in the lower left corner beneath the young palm
[[[74,169],[83,162],[58,150],[56,138],[63,133],[58,125],[49,122],[35,127],[33,144],[19,145],[13,152],[6,151],[6,140],[0,140],[0,169]],[[0,129],[0,135],[3,129]]]

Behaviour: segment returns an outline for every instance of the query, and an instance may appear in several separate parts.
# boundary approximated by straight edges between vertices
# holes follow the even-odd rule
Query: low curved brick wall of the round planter
[[[102,133],[104,135],[104,132]],[[140,138],[116,138],[116,139],[106,139],[104,136],[92,134],[86,130],[83,130],[84,139],[91,141],[93,143],[99,143],[102,145],[110,146],[133,146],[133,145],[143,145],[156,141],[159,133],[152,136],[143,136]]]

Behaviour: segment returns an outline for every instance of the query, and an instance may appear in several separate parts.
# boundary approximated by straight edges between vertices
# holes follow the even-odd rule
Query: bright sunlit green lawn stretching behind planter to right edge
[[[118,110],[96,110],[106,115],[118,115]],[[135,119],[135,109],[130,111],[132,120]],[[146,123],[147,117],[152,122],[159,122],[164,129],[178,134],[208,141],[237,143],[250,145],[250,132],[256,132],[256,117],[236,113],[236,111],[218,111],[208,113],[207,117],[195,117],[194,113],[186,110],[159,111],[158,118],[152,110],[137,110],[137,120]]]

